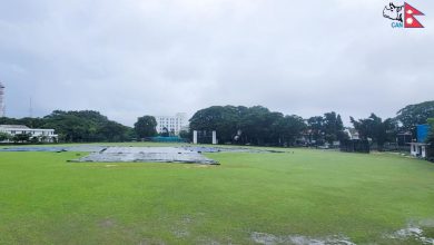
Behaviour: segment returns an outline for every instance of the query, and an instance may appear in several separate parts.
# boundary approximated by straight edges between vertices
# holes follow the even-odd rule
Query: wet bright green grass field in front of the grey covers
[[[356,244],[421,244],[388,236],[410,224],[434,237],[433,164],[287,151],[207,155],[220,166],[0,153],[0,244],[285,244],[283,237],[335,235]]]

